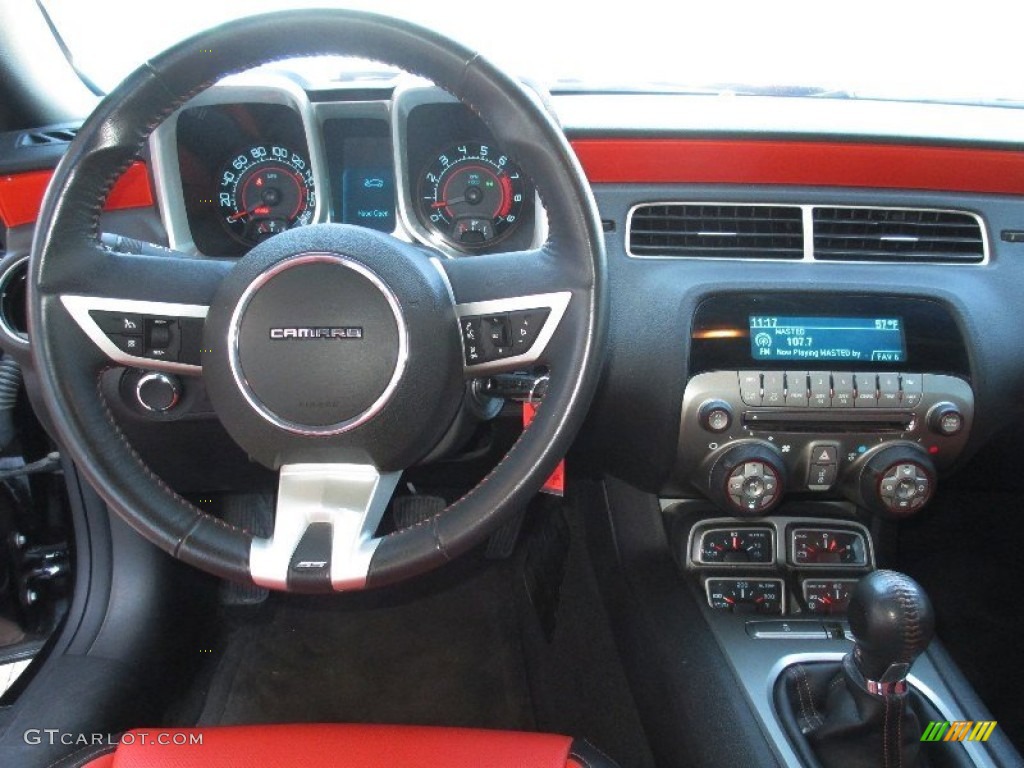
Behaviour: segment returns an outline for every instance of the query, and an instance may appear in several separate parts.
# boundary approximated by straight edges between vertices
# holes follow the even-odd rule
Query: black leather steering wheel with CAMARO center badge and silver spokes
[[[546,244],[445,259],[375,231],[313,224],[237,262],[126,255],[101,245],[104,200],[162,121],[225,75],[314,54],[396,66],[474,110],[535,182],[548,216]],[[390,584],[483,541],[567,451],[599,375],[602,237],[558,125],[537,94],[477,53],[361,12],[242,19],[139,68],[97,106],[57,167],[30,260],[40,390],[63,450],[87,479],[175,557],[282,590]],[[128,444],[98,387],[102,372],[124,361],[97,326],[97,310],[112,308],[180,317],[182,328],[185,318],[205,316],[202,376],[217,416],[250,456],[281,473],[271,538],[193,506]],[[460,324],[517,309],[547,312],[532,347],[469,365]],[[534,423],[495,470],[434,518],[375,538],[401,470],[443,436],[465,381],[525,362],[547,365],[551,383]]]

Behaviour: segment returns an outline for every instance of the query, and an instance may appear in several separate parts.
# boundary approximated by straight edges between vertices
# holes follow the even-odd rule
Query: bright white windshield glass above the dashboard
[[[183,37],[287,0],[43,0],[78,69],[110,90]],[[321,3],[319,5],[324,5]],[[355,0],[560,90],[687,90],[1024,105],[1018,3]],[[987,6],[987,7],[986,7]]]

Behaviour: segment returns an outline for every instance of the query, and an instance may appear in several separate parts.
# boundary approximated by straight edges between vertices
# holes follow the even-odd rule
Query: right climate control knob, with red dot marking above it
[[[897,443],[866,457],[847,495],[878,514],[907,517],[928,503],[935,483],[935,465],[928,454],[913,443]]]

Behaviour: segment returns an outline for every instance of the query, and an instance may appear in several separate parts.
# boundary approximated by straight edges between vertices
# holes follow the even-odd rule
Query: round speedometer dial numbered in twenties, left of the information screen
[[[287,146],[248,146],[220,173],[220,212],[246,244],[312,221],[316,193],[309,161]]]

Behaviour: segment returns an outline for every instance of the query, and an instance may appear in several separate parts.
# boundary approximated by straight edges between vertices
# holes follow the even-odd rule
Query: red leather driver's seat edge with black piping
[[[138,729],[85,768],[614,768],[586,742],[544,733],[390,725]]]

